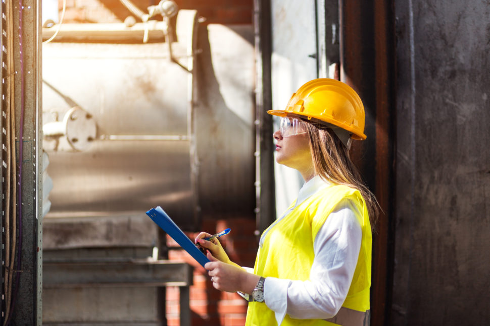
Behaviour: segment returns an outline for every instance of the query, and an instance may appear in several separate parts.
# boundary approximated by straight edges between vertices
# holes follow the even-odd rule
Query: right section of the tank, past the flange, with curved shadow
[[[255,60],[252,25],[199,31],[195,140],[203,216],[255,208]]]

